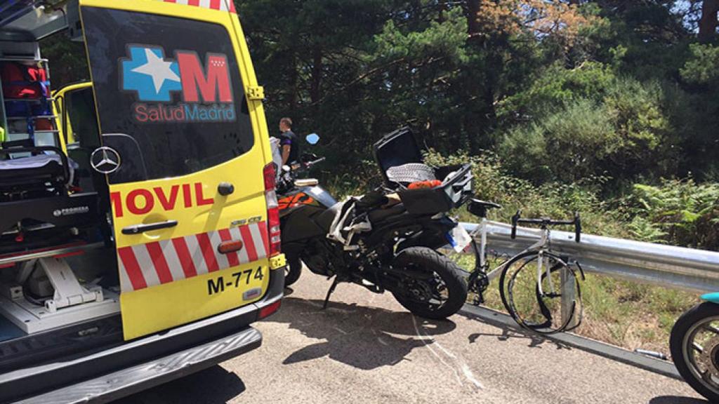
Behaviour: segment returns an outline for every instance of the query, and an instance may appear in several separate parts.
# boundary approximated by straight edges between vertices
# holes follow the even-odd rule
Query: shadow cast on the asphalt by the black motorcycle
[[[285,298],[283,308],[266,321],[287,323],[290,329],[321,341],[304,346],[287,357],[293,364],[330,357],[358,369],[370,370],[402,361],[412,349],[432,344],[432,335],[456,327],[449,320],[416,318],[408,312],[356,304],[331,302],[322,310],[323,300]]]

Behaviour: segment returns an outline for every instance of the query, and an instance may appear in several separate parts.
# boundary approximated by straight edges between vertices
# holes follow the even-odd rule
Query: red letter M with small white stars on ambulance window
[[[218,102],[218,95],[219,102],[232,102],[226,55],[209,53],[206,70],[202,68],[196,52],[178,51],[176,55],[180,65],[183,98],[186,102],[200,102],[198,88],[205,103]]]

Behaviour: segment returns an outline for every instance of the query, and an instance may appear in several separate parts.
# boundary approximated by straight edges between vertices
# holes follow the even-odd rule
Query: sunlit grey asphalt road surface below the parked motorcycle
[[[415,318],[391,295],[303,273],[260,349],[117,402],[707,403],[683,382],[502,329]]]

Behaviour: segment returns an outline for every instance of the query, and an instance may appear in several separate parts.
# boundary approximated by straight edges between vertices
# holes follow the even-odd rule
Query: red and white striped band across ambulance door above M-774
[[[221,242],[234,240],[242,240],[242,249],[228,254],[218,252]],[[267,242],[267,224],[260,221],[122,247],[117,250],[120,289],[132,292],[257,261],[267,257]]]

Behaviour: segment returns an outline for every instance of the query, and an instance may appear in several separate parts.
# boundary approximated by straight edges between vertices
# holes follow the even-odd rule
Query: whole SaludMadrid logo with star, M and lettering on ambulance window
[[[227,55],[175,50],[167,58],[155,45],[129,45],[120,60],[121,88],[137,94],[134,119],[150,122],[230,122],[237,119]],[[179,94],[179,97],[176,95]],[[173,102],[180,98],[180,102]]]

